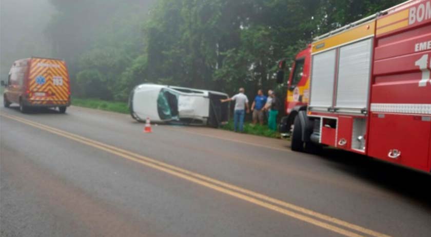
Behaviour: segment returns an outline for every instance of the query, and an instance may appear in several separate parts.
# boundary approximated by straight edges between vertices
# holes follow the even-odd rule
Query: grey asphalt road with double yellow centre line
[[[0,109],[0,235],[430,236],[431,176],[70,107]]]

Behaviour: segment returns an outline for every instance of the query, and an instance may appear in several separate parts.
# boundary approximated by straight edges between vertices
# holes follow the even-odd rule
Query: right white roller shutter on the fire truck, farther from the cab
[[[337,109],[357,112],[367,107],[371,75],[372,39],[365,39],[340,48]]]

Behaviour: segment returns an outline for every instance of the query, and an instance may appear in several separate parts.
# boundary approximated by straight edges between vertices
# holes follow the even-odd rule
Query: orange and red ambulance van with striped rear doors
[[[58,107],[61,113],[70,105],[70,83],[66,62],[61,59],[32,57],[13,63],[3,104],[19,105],[25,113],[29,107]]]

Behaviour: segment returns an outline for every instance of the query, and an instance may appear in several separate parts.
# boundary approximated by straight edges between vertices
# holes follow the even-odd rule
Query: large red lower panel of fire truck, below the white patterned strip
[[[425,170],[428,165],[430,135],[430,115],[372,113],[368,155]],[[400,152],[400,155],[394,153],[394,150]]]

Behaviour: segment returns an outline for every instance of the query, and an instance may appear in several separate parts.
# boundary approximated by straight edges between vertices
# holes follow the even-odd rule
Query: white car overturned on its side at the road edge
[[[131,116],[138,121],[183,122],[219,126],[229,120],[229,103],[221,103],[228,95],[221,92],[141,84],[129,97]]]

